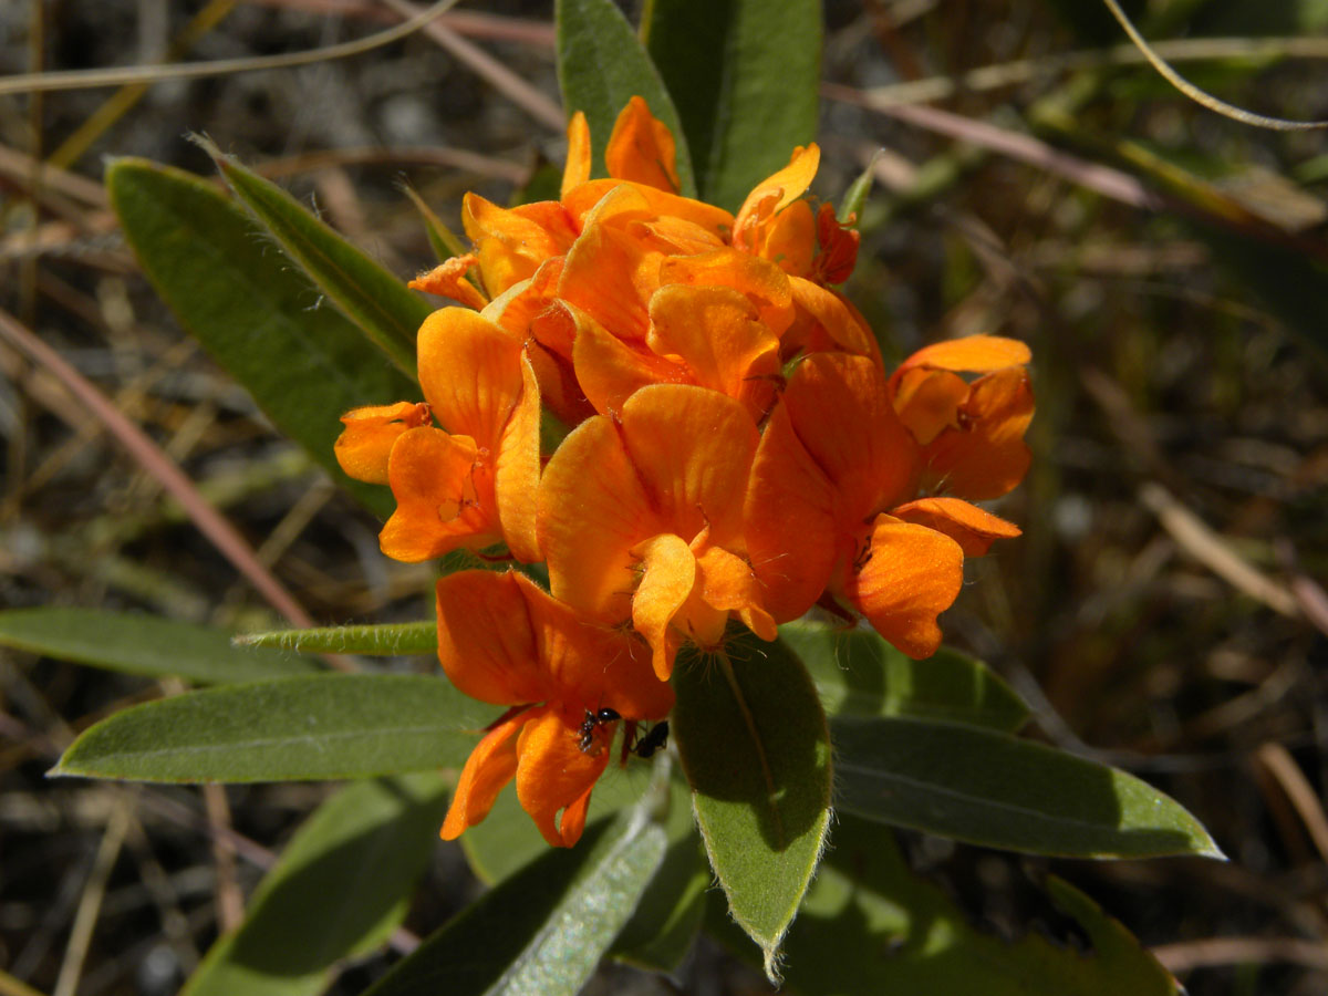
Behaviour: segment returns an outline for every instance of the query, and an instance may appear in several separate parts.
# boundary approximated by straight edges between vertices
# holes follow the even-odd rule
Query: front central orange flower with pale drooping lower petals
[[[539,543],[554,595],[604,625],[631,620],[668,680],[679,645],[717,645],[729,615],[774,620],[745,558],[742,498],[757,430],[732,398],[653,385],[622,420],[568,436],[540,481]]]

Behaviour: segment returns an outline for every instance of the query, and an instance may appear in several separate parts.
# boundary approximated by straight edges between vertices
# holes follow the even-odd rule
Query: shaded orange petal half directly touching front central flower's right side
[[[776,622],[797,619],[821,598],[841,555],[834,483],[798,440],[780,404],[752,462],[746,548]]]

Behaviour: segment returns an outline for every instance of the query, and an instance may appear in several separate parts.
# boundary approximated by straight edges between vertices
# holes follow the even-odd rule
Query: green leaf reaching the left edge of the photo
[[[0,612],[0,645],[147,677],[201,685],[258,681],[319,671],[316,661],[231,645],[231,635],[158,616],[92,608]]]

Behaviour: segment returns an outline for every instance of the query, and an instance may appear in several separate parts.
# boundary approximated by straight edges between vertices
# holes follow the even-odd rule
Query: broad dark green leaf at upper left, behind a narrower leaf
[[[360,331],[264,243],[254,220],[198,177],[145,159],[106,171],[110,203],[157,293],[259,408],[361,503],[393,509],[385,487],[336,462],[337,418],[357,405],[418,397]]]

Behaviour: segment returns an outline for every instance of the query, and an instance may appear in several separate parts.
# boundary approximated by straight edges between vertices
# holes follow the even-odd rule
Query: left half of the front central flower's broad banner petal
[[[618,428],[604,416],[587,418],[539,479],[539,548],[554,596],[600,623],[625,622],[636,587],[632,547],[664,531]]]

